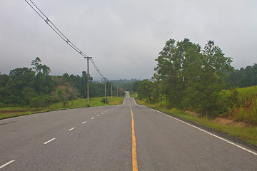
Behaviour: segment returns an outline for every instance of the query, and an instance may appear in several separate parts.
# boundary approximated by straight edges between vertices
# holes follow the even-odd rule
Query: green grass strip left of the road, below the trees
[[[123,103],[124,97],[107,97],[108,104],[101,103],[102,98],[90,98],[89,104],[90,106],[101,106],[101,105],[120,105]],[[69,101],[68,106],[64,106],[63,103],[53,103],[49,107],[46,108],[29,108],[29,107],[5,107],[0,108],[0,119],[4,118],[13,118],[20,115],[30,115],[33,113],[44,113],[54,110],[64,110],[71,108],[86,108],[87,107],[87,99],[86,98],[78,98],[73,101]]]

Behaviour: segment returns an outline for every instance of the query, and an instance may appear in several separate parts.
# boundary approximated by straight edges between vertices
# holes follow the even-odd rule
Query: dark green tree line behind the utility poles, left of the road
[[[44,107],[54,102],[68,105],[69,100],[87,97],[87,73],[74,76],[64,73],[63,76],[50,76],[51,69],[41,64],[36,57],[31,62],[32,68],[16,68],[9,75],[0,74],[0,106],[29,105]],[[93,82],[89,75],[89,96],[104,96],[104,84]],[[123,95],[122,88],[113,90],[114,95]],[[119,92],[118,92],[119,91]],[[118,93],[116,93],[118,92]],[[111,82],[106,81],[106,95],[111,95]]]

